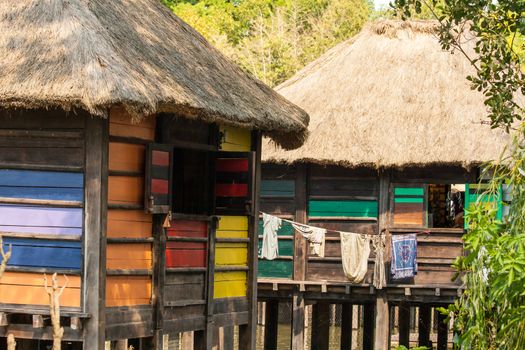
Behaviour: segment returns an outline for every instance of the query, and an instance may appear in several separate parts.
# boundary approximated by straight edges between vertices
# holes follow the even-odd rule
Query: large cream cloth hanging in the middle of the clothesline
[[[352,232],[341,235],[341,258],[345,276],[352,283],[362,283],[368,271],[370,236]]]

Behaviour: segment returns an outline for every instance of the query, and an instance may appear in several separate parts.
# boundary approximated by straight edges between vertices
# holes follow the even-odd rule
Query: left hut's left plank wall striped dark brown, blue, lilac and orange
[[[61,305],[81,307],[86,117],[0,111],[0,234],[12,246],[0,304],[49,305],[43,274],[59,272]]]

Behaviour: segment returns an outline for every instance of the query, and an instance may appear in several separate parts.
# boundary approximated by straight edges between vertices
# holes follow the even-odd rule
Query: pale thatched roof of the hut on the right
[[[277,87],[310,115],[310,136],[290,152],[265,142],[263,160],[470,167],[497,159],[508,137],[487,125],[484,97],[466,80],[473,68],[441,49],[435,26],[372,23]]]

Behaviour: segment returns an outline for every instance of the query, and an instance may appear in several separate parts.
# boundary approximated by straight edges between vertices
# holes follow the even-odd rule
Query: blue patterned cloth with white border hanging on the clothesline
[[[415,233],[392,236],[392,265],[394,279],[414,277],[417,273],[417,236]]]

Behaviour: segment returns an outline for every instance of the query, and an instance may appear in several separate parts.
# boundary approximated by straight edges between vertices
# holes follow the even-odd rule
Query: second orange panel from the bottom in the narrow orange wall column
[[[108,269],[151,269],[150,243],[110,243],[107,248]]]

